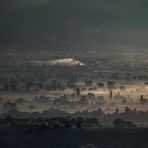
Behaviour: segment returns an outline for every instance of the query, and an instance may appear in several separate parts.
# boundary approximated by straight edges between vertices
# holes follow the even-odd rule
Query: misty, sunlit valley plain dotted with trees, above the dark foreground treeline
[[[34,114],[35,118],[85,116],[100,119],[103,126],[113,126],[113,120],[121,118],[146,127],[146,57],[130,61],[129,57],[123,58],[124,54],[115,53],[119,56],[112,60],[104,52],[89,60],[87,55],[81,59],[50,55],[48,59],[52,60],[43,55],[42,60],[36,56],[31,61],[22,58],[1,64],[0,117],[8,113],[17,118],[32,118]],[[135,115],[126,117],[128,113]],[[142,120],[140,114],[144,115]]]

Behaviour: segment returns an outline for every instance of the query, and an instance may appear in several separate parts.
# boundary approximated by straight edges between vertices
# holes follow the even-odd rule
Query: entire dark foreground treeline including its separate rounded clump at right
[[[96,118],[71,118],[68,117],[56,117],[50,119],[17,119],[7,115],[5,119],[0,120],[1,127],[13,127],[13,128],[33,128],[33,129],[69,129],[69,128],[101,128],[107,127],[101,125]],[[131,121],[124,121],[122,119],[115,119],[113,126],[115,128],[135,128],[136,125]]]

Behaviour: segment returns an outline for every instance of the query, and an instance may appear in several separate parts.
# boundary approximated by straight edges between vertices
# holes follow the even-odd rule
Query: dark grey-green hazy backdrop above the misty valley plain
[[[1,0],[0,49],[148,48],[147,0]]]

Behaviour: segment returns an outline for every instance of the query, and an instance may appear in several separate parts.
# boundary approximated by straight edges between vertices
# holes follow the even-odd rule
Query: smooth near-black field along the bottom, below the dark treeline
[[[147,148],[148,129],[0,129],[0,148]]]

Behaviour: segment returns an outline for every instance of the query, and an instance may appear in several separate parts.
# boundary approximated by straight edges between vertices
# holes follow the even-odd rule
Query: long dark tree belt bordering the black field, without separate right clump
[[[27,127],[27,128],[82,128],[82,127],[100,127],[99,121],[96,118],[71,118],[71,117],[56,117],[50,119],[14,119],[7,115],[1,120],[0,125],[8,125],[11,127]]]

